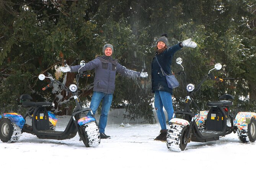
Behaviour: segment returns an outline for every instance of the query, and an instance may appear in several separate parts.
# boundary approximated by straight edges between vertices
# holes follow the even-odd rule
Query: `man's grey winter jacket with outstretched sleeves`
[[[70,72],[78,72],[80,65],[70,66]],[[107,56],[98,56],[92,61],[85,64],[80,71],[95,69],[95,78],[93,91],[100,91],[104,93],[114,93],[116,72],[128,77],[140,77],[140,72],[126,69],[118,63],[117,59]]]

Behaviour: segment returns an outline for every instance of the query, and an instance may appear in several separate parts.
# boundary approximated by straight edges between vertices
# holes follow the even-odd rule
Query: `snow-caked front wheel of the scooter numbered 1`
[[[99,128],[95,122],[82,125],[82,140],[86,147],[96,147],[100,144]]]

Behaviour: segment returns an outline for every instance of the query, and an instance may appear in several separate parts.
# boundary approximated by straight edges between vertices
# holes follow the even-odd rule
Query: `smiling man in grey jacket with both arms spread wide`
[[[137,72],[126,69],[118,63],[117,59],[112,58],[113,46],[106,44],[103,47],[103,56],[98,56],[85,64],[80,69],[80,65],[60,67],[62,72],[78,72],[95,69],[95,78],[93,85],[93,96],[91,98],[90,108],[93,114],[96,113],[102,100],[101,115],[99,117],[99,133],[101,139],[108,139],[110,136],[105,134],[105,128],[108,120],[108,112],[112,103],[115,90],[116,72],[128,77],[147,78],[147,72]]]

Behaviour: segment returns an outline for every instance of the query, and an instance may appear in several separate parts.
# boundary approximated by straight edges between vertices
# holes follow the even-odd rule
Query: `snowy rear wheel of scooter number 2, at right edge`
[[[242,142],[254,142],[256,140],[256,120],[251,118],[247,129],[238,129],[237,135]]]

